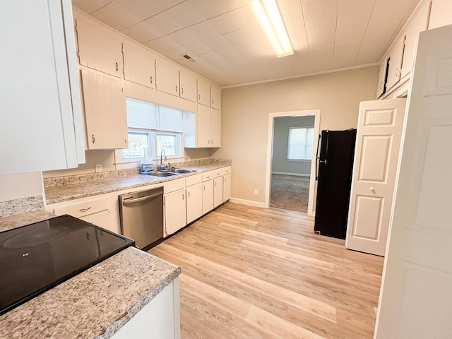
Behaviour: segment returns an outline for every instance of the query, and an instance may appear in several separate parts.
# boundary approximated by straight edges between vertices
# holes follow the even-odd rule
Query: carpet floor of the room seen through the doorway
[[[309,177],[271,174],[270,206],[307,213]]]

